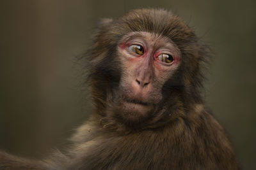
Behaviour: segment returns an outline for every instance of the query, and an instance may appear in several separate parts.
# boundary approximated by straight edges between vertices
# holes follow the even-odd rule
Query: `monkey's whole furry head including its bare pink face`
[[[165,10],[134,10],[103,20],[88,52],[103,124],[156,127],[176,113],[186,114],[186,100],[200,100],[206,54],[188,25]]]

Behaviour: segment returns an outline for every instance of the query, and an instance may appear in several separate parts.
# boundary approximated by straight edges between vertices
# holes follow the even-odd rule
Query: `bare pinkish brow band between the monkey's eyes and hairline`
[[[129,32],[123,36],[120,41],[118,41],[118,44],[124,44],[132,40],[135,40],[135,42],[136,40],[143,41],[141,43],[144,43],[147,46],[153,46],[154,48],[165,46],[167,48],[171,48],[173,52],[180,55],[180,50],[178,46],[172,41],[172,39],[153,32]]]

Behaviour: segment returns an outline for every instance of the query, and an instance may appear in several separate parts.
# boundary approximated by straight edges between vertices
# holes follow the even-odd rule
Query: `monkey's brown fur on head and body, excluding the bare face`
[[[114,90],[122,76],[116,46],[130,32],[172,39],[182,55],[179,69],[164,83],[166,102],[137,123],[120,119],[115,111]],[[102,21],[86,54],[95,113],[77,129],[74,145],[42,162],[0,153],[0,169],[239,169],[223,128],[200,97],[207,49],[168,11],[134,10]]]

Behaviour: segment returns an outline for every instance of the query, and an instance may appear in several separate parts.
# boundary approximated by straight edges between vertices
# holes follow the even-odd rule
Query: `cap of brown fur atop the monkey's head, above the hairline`
[[[114,34],[124,32],[154,32],[169,37],[177,43],[193,40],[196,38],[194,32],[188,25],[172,12],[161,9],[138,9],[132,10],[115,22],[111,28]]]

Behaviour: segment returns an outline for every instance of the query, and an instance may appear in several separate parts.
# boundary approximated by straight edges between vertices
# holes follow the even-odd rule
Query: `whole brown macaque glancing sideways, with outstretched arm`
[[[133,10],[99,24],[86,53],[95,109],[67,152],[0,153],[0,169],[239,169],[200,96],[208,49],[170,11]]]

